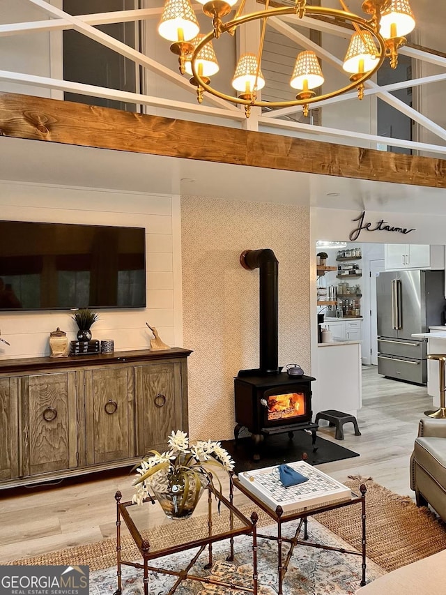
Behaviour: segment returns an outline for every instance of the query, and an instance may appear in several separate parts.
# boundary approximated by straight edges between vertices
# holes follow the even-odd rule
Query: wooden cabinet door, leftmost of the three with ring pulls
[[[74,372],[20,379],[23,474],[77,467]]]

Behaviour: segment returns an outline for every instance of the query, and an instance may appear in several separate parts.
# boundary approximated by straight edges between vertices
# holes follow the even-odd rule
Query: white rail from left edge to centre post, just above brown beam
[[[58,91],[68,91],[70,93],[79,93],[92,97],[101,97],[126,103],[151,105],[152,107],[162,107],[164,109],[180,110],[182,112],[194,112],[197,114],[206,114],[208,116],[217,116],[220,118],[231,118],[243,121],[245,114],[238,110],[229,112],[221,110],[218,107],[208,107],[206,105],[195,105],[185,101],[175,101],[161,97],[142,95],[141,93],[130,93],[130,91],[118,91],[117,89],[107,89],[103,86],[91,84],[70,82],[49,77],[39,77],[36,75],[26,75],[22,73],[11,73],[8,70],[0,70],[0,80],[18,84],[31,84],[43,89],[56,89]]]

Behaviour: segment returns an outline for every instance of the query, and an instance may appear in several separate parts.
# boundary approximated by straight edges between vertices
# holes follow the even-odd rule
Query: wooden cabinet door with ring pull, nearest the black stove
[[[151,449],[165,449],[170,432],[185,429],[181,419],[180,380],[178,363],[135,367],[138,455]]]

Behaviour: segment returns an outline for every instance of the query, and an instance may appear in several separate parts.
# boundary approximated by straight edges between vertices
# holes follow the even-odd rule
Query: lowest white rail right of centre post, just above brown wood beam
[[[326,126],[314,126],[313,124],[305,124],[302,122],[291,122],[287,120],[272,120],[261,116],[259,122],[265,126],[272,126],[274,128],[282,128],[284,130],[299,130],[300,132],[314,134],[314,135],[328,135],[337,138],[351,138],[353,140],[365,140],[367,142],[377,142],[380,144],[387,144],[389,146],[401,146],[403,149],[417,149],[418,151],[429,151],[431,153],[441,153],[446,155],[446,146],[439,144],[428,144],[425,142],[415,142],[412,140],[400,140],[397,138],[390,138],[378,135],[370,135],[367,133],[357,133],[351,130],[338,130],[337,128],[327,128]]]

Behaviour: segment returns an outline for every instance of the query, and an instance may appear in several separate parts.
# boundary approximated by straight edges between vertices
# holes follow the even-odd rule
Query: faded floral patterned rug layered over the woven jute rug
[[[284,536],[295,533],[297,521],[286,523],[282,527]],[[275,534],[275,525],[263,527],[262,534]],[[308,522],[309,541],[351,550],[351,545],[334,535],[313,518]],[[284,552],[288,551],[284,545]],[[180,552],[157,559],[154,566],[178,571],[190,562],[194,552]],[[192,567],[194,575],[208,576],[232,585],[252,587],[252,541],[248,536],[239,536],[235,541],[235,558],[226,562],[228,543],[223,541],[213,546],[214,565],[210,571],[204,569],[208,562],[207,552],[202,553],[197,564]],[[155,564],[156,562],[156,564]],[[277,543],[268,539],[259,539],[258,550],[259,595],[277,595]],[[142,571],[130,566],[123,566],[123,595],[144,593]],[[360,587],[362,568],[361,557],[342,554],[330,550],[298,545],[293,552],[289,569],[285,575],[283,592],[286,595],[341,595],[353,594]],[[367,582],[385,574],[374,562],[367,561]],[[175,577],[161,573],[150,573],[149,593],[165,595],[176,580]],[[90,593],[94,595],[112,594],[116,590],[116,567],[90,573]],[[201,582],[187,580],[176,590],[176,595],[240,595],[243,591],[231,587],[203,585]]]

